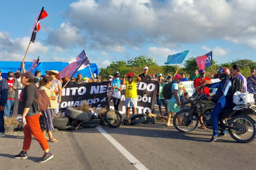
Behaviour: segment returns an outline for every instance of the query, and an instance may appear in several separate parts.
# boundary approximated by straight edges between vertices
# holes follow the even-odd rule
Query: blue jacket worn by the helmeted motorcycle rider
[[[221,82],[216,82],[212,84],[206,84],[206,87],[216,88],[218,87],[216,94],[212,96],[213,99],[221,103],[221,106],[224,107],[232,103],[232,98],[229,96],[229,91],[231,88],[231,80],[224,78]]]

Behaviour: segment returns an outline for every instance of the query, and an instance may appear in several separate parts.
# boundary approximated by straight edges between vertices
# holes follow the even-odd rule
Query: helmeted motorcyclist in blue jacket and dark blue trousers
[[[221,131],[221,133],[218,133],[218,116],[222,111],[224,111],[224,109],[232,105],[232,99],[229,96],[229,91],[231,88],[230,71],[227,67],[221,67],[217,70],[217,73],[221,82],[203,85],[203,87],[211,88],[216,88],[218,86],[216,94],[208,97],[209,100],[215,99],[215,101],[217,101],[212,111],[213,135],[208,142],[215,141],[220,135],[226,136],[226,131]]]

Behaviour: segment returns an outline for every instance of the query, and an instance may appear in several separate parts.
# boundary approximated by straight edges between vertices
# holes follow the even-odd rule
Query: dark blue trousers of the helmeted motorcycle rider
[[[212,111],[212,126],[213,126],[213,136],[219,136],[218,133],[218,117],[219,114],[226,109],[227,106],[225,105],[224,107],[221,106],[221,103],[216,103],[215,107],[213,108]],[[223,131],[223,133],[226,133],[226,131]]]

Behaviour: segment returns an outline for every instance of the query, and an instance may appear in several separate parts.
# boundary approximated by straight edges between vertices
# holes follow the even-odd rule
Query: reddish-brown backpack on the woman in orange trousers
[[[33,100],[37,103],[38,111],[45,112],[48,107],[51,107],[49,97],[44,90],[37,88],[38,100],[34,97]]]

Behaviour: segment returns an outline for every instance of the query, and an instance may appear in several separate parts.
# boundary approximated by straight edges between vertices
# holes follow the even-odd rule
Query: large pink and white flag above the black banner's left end
[[[82,70],[90,65],[90,62],[84,52],[84,50],[73,60],[69,62],[62,71],[59,72],[59,78],[64,78],[66,76],[73,77],[77,70]]]

